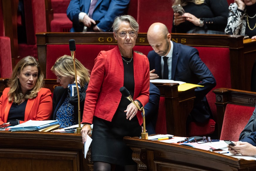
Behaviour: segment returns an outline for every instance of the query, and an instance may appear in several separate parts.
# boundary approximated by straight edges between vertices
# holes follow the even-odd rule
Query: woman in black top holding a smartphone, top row
[[[175,0],[183,15],[174,11],[172,33],[225,34],[228,19],[226,0]]]

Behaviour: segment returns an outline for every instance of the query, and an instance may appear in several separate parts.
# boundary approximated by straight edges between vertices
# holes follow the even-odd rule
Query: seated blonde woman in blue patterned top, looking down
[[[80,95],[81,118],[84,109],[84,100],[90,75],[89,70],[75,59],[77,70],[77,83]],[[58,120],[61,128],[78,124],[78,97],[75,84],[75,71],[73,58],[61,56],[51,68],[57,77],[58,86],[53,91],[53,120]]]

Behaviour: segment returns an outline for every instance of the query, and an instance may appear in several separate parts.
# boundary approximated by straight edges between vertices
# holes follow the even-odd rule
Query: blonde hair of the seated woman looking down
[[[77,76],[80,77],[80,85],[85,86],[86,83],[89,83],[90,74],[89,70],[83,66],[83,64],[75,58]],[[75,77],[74,71],[74,60],[72,56],[64,55],[57,59],[55,64],[51,68],[52,72],[58,72],[65,77]]]

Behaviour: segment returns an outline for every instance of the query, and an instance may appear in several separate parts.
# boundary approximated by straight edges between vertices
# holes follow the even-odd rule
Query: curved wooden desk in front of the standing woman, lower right
[[[139,138],[124,137],[124,142],[133,150],[139,171],[256,170],[255,160]]]

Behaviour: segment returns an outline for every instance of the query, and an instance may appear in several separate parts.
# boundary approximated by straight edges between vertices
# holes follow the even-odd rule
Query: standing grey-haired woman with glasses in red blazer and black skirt
[[[133,52],[138,28],[132,16],[116,17],[113,34],[118,46],[101,51],[91,71],[84,103],[82,138],[85,142],[93,122],[91,160],[94,170],[110,170],[111,164],[137,170],[132,151],[123,142],[123,137],[140,136],[143,120],[141,112],[122,97],[119,89],[126,87],[140,106],[148,103],[148,58]]]

